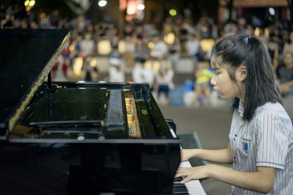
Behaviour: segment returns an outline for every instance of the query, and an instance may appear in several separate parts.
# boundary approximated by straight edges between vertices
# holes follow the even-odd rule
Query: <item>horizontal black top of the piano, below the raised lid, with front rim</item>
[[[43,89],[47,88],[46,83],[40,86],[21,121],[24,126],[42,127],[42,132],[33,129],[20,139],[11,139],[11,142],[179,143],[179,140],[173,139],[145,84],[53,83],[52,88],[56,91],[43,97],[46,94]],[[125,91],[133,92],[143,139],[128,135]]]

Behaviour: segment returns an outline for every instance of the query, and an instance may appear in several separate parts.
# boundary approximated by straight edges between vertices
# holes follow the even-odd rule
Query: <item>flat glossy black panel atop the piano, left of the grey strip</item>
[[[103,119],[106,89],[58,88],[33,108],[29,125],[100,123]]]

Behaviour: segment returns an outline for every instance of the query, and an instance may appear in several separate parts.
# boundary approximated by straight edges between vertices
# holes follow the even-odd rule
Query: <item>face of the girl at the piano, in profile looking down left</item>
[[[219,94],[222,99],[237,97],[244,101],[245,90],[243,90],[243,86],[241,86],[241,83],[238,82],[237,70],[235,72],[235,77],[239,87],[229,76],[227,70],[229,65],[224,64],[220,66],[218,61],[219,60],[215,59],[215,57],[212,57],[211,59],[211,66],[214,72],[211,84],[214,86],[214,90],[217,91],[217,94]]]

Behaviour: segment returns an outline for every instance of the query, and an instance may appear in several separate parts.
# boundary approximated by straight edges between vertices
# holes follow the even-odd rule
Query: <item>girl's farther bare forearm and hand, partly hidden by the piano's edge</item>
[[[228,147],[221,150],[204,150],[204,149],[183,149],[181,150],[181,161],[186,161],[190,158],[199,158],[204,161],[213,163],[232,164],[233,156],[231,144],[229,141]]]

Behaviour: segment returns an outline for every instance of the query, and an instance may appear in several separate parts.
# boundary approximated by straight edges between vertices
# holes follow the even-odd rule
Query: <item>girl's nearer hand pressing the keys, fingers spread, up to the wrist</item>
[[[197,167],[179,167],[177,169],[176,177],[186,176],[180,183],[185,183],[191,179],[203,179],[209,177],[212,165],[203,165]]]

